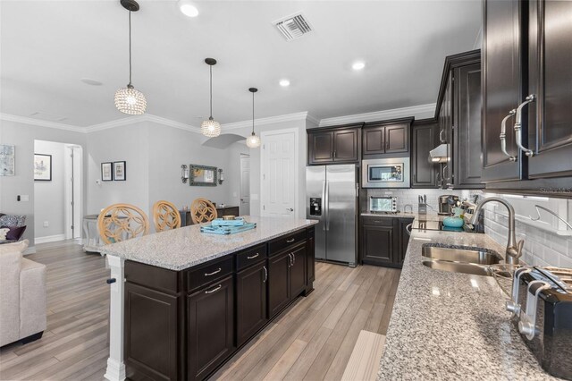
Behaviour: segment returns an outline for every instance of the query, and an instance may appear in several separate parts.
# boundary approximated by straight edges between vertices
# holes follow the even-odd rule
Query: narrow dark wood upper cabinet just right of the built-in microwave
[[[437,188],[439,165],[429,162],[429,151],[439,145],[439,123],[415,121],[411,139],[411,188]]]

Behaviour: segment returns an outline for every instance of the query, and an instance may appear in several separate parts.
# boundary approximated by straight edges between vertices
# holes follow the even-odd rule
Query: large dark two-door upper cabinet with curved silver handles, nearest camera
[[[483,178],[488,189],[572,197],[569,20],[569,1],[484,2]]]

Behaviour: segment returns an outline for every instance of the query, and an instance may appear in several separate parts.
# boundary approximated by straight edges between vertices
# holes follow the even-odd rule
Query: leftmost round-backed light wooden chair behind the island
[[[143,210],[130,204],[114,204],[97,217],[97,230],[105,244],[130,240],[149,233],[149,220]]]

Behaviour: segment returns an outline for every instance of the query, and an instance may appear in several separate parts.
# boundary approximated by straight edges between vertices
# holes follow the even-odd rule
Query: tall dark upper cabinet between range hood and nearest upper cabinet
[[[437,174],[442,187],[484,188],[481,99],[481,51],[448,56],[437,101],[439,144],[447,148],[446,161]]]

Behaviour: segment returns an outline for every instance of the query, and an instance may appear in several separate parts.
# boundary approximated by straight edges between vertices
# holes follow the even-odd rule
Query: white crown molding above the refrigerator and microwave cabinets
[[[436,104],[410,106],[402,108],[393,108],[391,110],[374,111],[373,113],[353,114],[345,116],[336,116],[333,118],[325,118],[320,121],[320,127],[333,126],[337,124],[347,124],[355,122],[377,122],[385,119],[396,119],[407,116],[415,116],[418,118],[433,117],[435,114]]]

